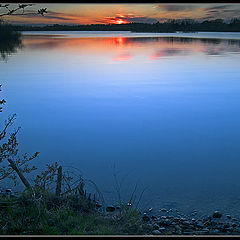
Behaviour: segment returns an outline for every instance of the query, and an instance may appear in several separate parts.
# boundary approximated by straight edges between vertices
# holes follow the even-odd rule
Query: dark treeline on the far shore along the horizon
[[[45,25],[19,26],[17,31],[131,31],[131,32],[240,32],[240,18],[232,19],[229,23],[223,19],[198,22],[193,19],[168,20],[164,23],[127,23],[127,24],[91,24],[91,25]]]

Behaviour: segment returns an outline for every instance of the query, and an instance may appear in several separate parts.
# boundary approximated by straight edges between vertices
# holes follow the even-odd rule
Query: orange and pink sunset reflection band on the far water
[[[168,37],[89,37],[84,34],[25,35],[25,49],[57,50],[73,55],[87,54],[106,56],[114,61],[126,61],[132,56],[143,55],[156,60],[164,56],[189,54],[220,55],[226,52],[240,52],[240,41],[177,39]],[[127,54],[126,54],[127,53]],[[117,57],[116,57],[117,56]]]

